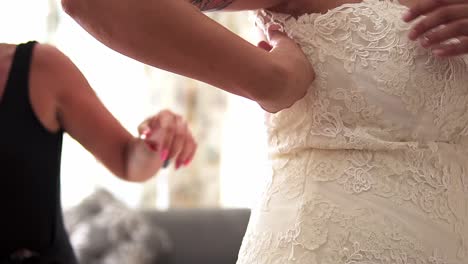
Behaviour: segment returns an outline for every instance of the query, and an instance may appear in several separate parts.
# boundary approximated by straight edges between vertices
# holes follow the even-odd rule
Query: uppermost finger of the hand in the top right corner
[[[434,1],[434,0],[432,0]],[[430,12],[412,28],[409,38],[415,40],[430,31],[444,30],[447,24],[468,18],[468,5],[449,5]]]

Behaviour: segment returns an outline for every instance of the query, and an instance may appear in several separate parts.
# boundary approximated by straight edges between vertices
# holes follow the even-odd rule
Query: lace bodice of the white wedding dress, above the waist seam
[[[365,0],[297,19],[261,11],[258,24],[279,23],[317,74],[303,100],[270,116],[274,150],[398,148],[468,136],[468,60],[436,58],[410,41],[406,9]]]

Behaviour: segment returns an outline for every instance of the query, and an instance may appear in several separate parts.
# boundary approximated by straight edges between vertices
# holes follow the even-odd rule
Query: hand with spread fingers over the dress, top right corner
[[[409,38],[419,40],[437,56],[468,53],[468,0],[420,0],[408,10],[406,22],[425,16]]]

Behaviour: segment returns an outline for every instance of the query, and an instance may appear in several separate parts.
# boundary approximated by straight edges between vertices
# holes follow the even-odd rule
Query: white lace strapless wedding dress
[[[409,41],[406,9],[260,12],[317,79],[267,120],[273,175],[238,264],[468,263],[468,64]]]

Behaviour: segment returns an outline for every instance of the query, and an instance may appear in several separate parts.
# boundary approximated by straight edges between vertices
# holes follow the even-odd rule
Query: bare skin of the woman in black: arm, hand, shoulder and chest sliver
[[[0,104],[15,45],[0,44]],[[182,118],[161,111],[132,136],[104,107],[78,68],[56,48],[37,44],[29,75],[29,97],[45,129],[70,134],[123,180],[142,182],[171,159],[190,163],[196,143]]]

